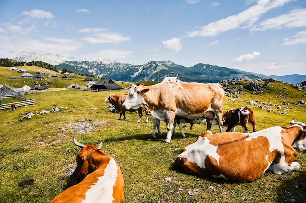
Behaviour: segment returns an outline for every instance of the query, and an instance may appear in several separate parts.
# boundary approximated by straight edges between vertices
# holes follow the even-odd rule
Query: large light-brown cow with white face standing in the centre
[[[165,143],[170,143],[175,115],[188,119],[204,117],[208,120],[212,120],[216,115],[220,132],[222,132],[224,95],[225,91],[217,83],[170,81],[152,86],[133,84],[122,106],[125,109],[137,109],[145,106],[151,111],[154,118],[166,121],[167,137]],[[207,122],[207,130],[210,128],[211,123]],[[152,136],[155,138],[155,130],[153,130]]]

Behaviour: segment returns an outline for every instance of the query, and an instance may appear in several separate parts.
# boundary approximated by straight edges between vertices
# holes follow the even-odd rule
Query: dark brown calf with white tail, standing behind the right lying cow
[[[241,125],[245,133],[249,133],[247,124],[250,124],[252,132],[256,132],[256,124],[253,110],[249,107],[240,107],[231,109],[223,114],[223,126],[227,126],[226,132],[234,132],[236,126]],[[217,119],[214,118],[211,122],[217,125]]]

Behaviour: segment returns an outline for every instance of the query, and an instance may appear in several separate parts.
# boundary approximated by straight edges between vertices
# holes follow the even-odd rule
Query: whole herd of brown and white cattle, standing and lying
[[[306,152],[306,124],[290,122],[290,127],[270,127],[256,130],[253,111],[240,107],[223,114],[225,92],[219,84],[166,82],[152,86],[132,85],[126,95],[109,95],[111,103],[124,115],[124,111],[151,113],[153,133],[160,120],[167,125],[165,143],[170,143],[172,129],[178,124],[201,122],[206,119],[207,129],[197,140],[182,149],[175,162],[187,172],[197,176],[213,176],[233,182],[252,182],[266,170],[282,174],[300,168],[294,162],[297,151]],[[147,110],[147,111],[146,111]],[[148,111],[149,110],[149,111]],[[146,113],[146,117],[148,114]],[[216,116],[216,117],[215,117]],[[146,120],[147,122],[147,120]],[[250,124],[252,133],[247,124]],[[219,125],[220,133],[212,134],[211,125]],[[223,125],[227,126],[223,132]],[[244,133],[234,132],[241,125]],[[175,132],[175,131],[174,131]],[[78,184],[68,188],[52,203],[104,202],[122,203],[124,179],[113,158],[93,145],[83,145],[75,137],[73,142],[82,148],[77,154],[77,168],[70,181]]]

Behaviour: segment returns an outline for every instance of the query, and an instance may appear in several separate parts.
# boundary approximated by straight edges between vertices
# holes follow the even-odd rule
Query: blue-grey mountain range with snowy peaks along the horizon
[[[167,76],[178,76],[185,82],[219,82],[221,80],[273,78],[287,83],[306,81],[306,75],[262,75],[241,71],[239,69],[220,67],[199,63],[191,67],[177,65],[172,61],[149,61],[143,65],[119,63],[97,55],[91,59],[77,61],[72,57],[60,54],[40,54],[38,52],[23,51],[16,61],[43,61],[55,65],[57,69],[67,69],[76,74],[88,74],[98,78],[111,78],[117,81],[158,81]]]

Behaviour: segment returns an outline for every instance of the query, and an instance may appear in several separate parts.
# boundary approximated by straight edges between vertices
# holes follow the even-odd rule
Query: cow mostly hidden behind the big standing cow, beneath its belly
[[[183,126],[182,124],[183,123],[189,123],[190,124],[190,130],[192,130],[192,126],[193,124],[195,123],[200,123],[202,121],[206,121],[206,119],[204,117],[200,117],[200,118],[196,118],[196,119],[188,119],[188,118],[183,118],[181,116],[178,116],[176,115],[175,116],[175,120],[174,120],[174,123],[173,123],[173,134],[175,134],[175,127],[176,127],[176,124],[178,124],[178,127],[181,131],[181,134],[183,137],[186,137],[184,131],[183,131]],[[154,118],[154,121],[153,121],[153,131],[156,130],[156,127],[157,127],[157,130],[158,130],[158,134],[161,135],[161,131],[160,131],[160,120],[157,119],[157,118]]]

